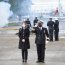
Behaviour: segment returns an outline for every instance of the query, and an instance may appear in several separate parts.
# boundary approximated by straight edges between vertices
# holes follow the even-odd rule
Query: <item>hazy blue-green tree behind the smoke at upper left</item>
[[[27,15],[32,4],[31,0],[9,0],[11,10],[17,15]]]

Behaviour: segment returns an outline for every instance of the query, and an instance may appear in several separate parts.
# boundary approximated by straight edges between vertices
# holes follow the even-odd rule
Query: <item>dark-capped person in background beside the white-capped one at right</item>
[[[52,18],[50,18],[50,21],[48,21],[47,26],[49,30],[50,41],[53,41],[54,21],[52,21]]]

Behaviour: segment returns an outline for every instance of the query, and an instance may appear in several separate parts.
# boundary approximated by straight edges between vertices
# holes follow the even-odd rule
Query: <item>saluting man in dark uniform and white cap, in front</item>
[[[42,25],[43,25],[42,21],[39,21],[34,27],[36,34],[35,43],[38,55],[37,63],[39,62],[44,63],[46,36],[49,37],[47,28],[42,27]]]

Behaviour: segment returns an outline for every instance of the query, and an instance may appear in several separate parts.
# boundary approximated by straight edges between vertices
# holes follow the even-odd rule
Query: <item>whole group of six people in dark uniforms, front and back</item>
[[[46,36],[47,39],[51,42],[53,41],[53,33],[55,37],[55,41],[59,40],[59,21],[58,19],[52,21],[52,18],[49,19],[47,22],[48,29],[45,28],[44,22],[41,20],[38,20],[37,17],[35,17],[34,21],[34,33],[36,35],[35,38],[35,44],[37,48],[37,63],[42,62],[44,63],[45,60],[45,43],[46,43]],[[31,22],[29,21],[29,18],[27,20],[22,22],[22,27],[19,29],[19,49],[22,51],[22,62],[27,62],[28,59],[28,49],[30,49],[30,27]]]

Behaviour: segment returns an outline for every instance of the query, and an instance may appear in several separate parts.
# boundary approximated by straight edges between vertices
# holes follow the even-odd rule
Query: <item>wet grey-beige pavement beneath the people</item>
[[[18,49],[18,36],[0,34],[0,65],[65,65],[65,38],[46,44],[45,63],[36,63],[35,36],[30,36],[31,49],[27,63],[22,63],[21,50]]]

